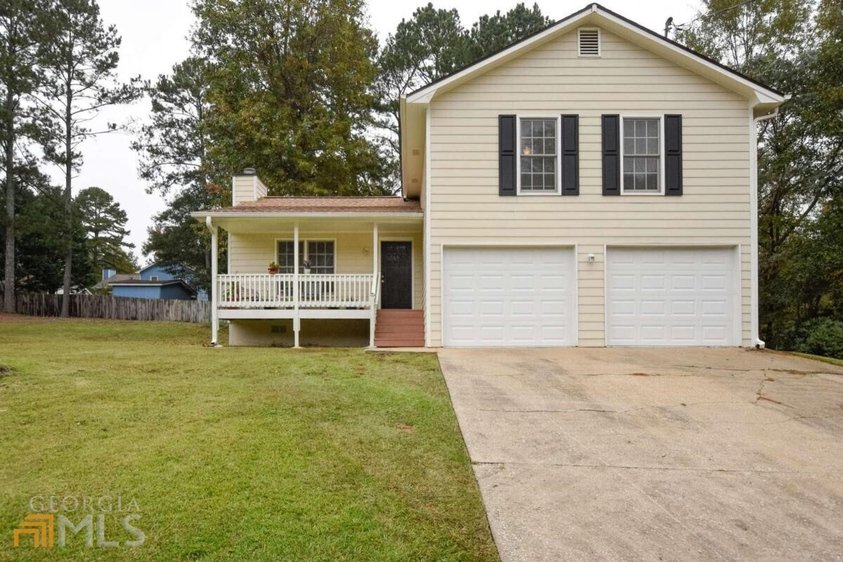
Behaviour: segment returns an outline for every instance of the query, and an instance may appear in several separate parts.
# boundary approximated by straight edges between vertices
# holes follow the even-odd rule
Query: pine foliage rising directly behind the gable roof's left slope
[[[466,67],[511,43],[550,25],[538,4],[527,8],[518,3],[502,14],[484,15],[465,29],[455,9],[417,8],[409,20],[402,19],[379,51],[378,98],[383,158],[395,173],[400,158],[398,118],[401,96],[438,78]],[[397,179],[395,185],[398,185]]]

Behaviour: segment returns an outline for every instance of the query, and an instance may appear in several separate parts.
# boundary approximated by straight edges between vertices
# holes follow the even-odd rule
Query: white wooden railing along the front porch
[[[293,274],[217,276],[219,308],[295,308]],[[298,308],[370,308],[371,274],[300,274]]]

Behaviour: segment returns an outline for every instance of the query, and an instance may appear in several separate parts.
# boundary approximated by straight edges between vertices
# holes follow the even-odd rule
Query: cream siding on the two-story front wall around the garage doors
[[[576,244],[578,345],[586,346],[605,345],[607,244],[739,246],[750,345],[748,100],[605,30],[601,41],[601,56],[578,57],[572,31],[432,99],[432,345],[442,345],[448,244]],[[497,195],[497,116],[563,113],[580,116],[580,195]],[[672,113],[683,116],[684,195],[602,195],[600,115]]]

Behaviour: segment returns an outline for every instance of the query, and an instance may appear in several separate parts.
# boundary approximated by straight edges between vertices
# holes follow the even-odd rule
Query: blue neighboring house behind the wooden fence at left
[[[137,272],[137,279],[108,281],[114,297],[164,298],[207,301],[207,292],[197,292],[191,283],[192,270],[184,265],[152,264]]]

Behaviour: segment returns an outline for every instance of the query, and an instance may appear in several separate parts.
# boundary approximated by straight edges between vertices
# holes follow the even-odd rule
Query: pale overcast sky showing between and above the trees
[[[369,0],[372,28],[383,40],[401,19],[410,18],[415,7],[424,3],[425,0]],[[434,6],[457,8],[460,19],[468,27],[483,13],[506,12],[516,3],[517,0],[450,0],[434,2]],[[695,0],[604,0],[602,3],[606,8],[655,30],[663,29],[664,21],[670,16],[679,23],[688,21],[697,5]],[[123,37],[119,67],[121,78],[140,74],[143,78],[154,80],[158,74],[169,72],[176,62],[187,56],[189,44],[186,36],[194,23],[187,0],[99,0],[99,5],[105,22],[115,24]],[[583,8],[586,2],[545,0],[539,5],[551,19],[560,19]],[[130,106],[104,111],[99,119],[102,123],[142,122],[148,110],[148,99],[143,99]],[[137,178],[137,157],[129,148],[131,140],[129,135],[111,133],[87,142],[83,146],[84,165],[73,185],[74,192],[96,185],[114,195],[129,215],[130,241],[136,245],[136,253],[142,263],[146,263],[146,256],[140,255],[140,248],[146,239],[151,217],[164,208],[164,201],[158,194],[148,195],[147,186]]]

